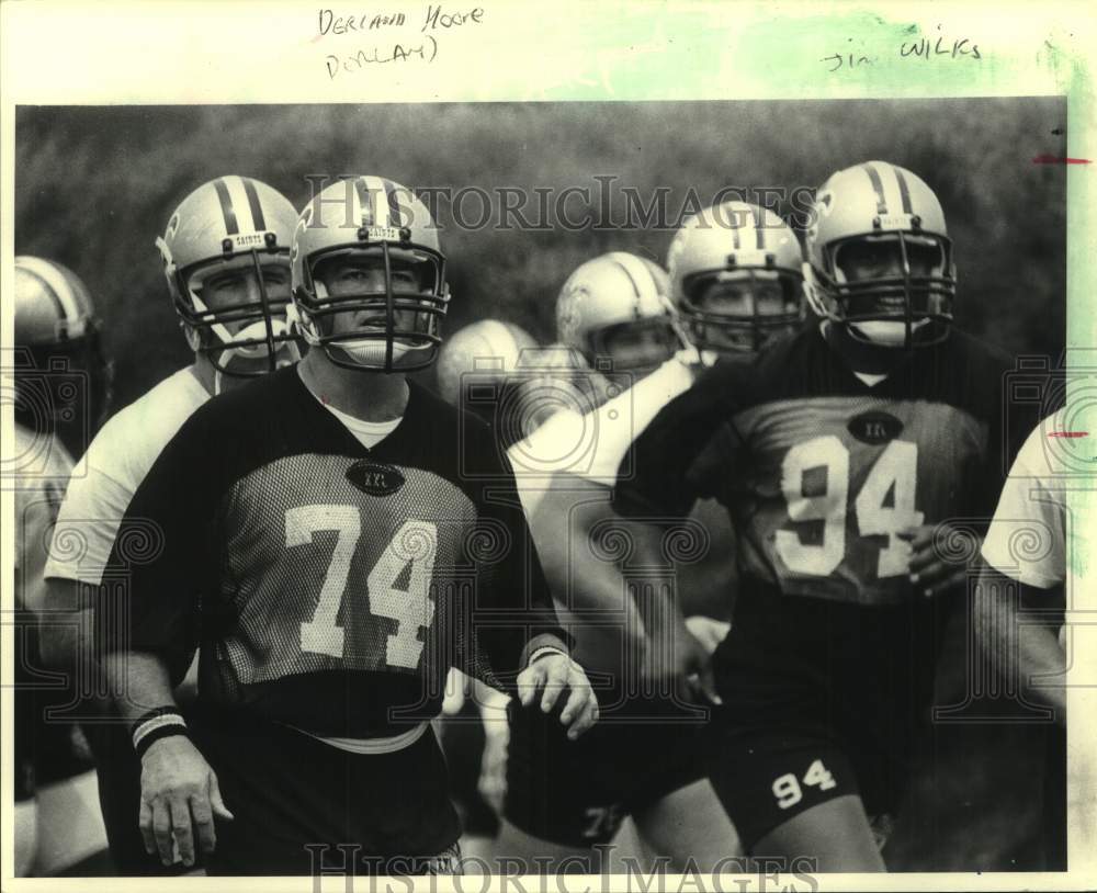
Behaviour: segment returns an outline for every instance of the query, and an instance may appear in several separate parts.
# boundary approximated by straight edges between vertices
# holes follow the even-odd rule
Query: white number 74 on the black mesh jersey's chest
[[[336,547],[324,575],[313,619],[301,624],[301,649],[330,657],[343,656],[343,630],[336,624],[350,575],[350,563],[362,534],[362,517],[357,506],[299,506],[285,513],[286,546],[305,545],[319,531],[336,532]],[[430,580],[434,573],[438,528],[429,521],[405,521],[385,546],[366,578],[370,611],[396,621],[388,635],[385,663],[414,669],[422,654],[419,628],[434,619]],[[407,589],[394,584],[408,566]]]

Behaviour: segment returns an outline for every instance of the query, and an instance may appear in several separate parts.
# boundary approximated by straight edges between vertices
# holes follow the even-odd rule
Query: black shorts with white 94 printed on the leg
[[[929,727],[949,611],[928,601],[740,602],[714,656],[724,704],[705,754],[748,852],[794,815],[847,794],[869,816],[896,812]]]

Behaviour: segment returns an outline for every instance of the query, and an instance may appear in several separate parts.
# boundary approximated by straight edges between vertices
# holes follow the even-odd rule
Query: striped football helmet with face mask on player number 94
[[[952,253],[929,186],[895,165],[868,161],[819,188],[807,231],[808,299],[858,340],[940,343],[953,319]]]

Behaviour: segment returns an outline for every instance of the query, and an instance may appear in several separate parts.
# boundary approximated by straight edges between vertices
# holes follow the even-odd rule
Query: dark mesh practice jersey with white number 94
[[[953,331],[900,354],[870,386],[806,329],[754,364],[717,365],[667,407],[617,501],[675,516],[715,496],[735,521],[744,577],[790,596],[905,601],[912,552],[898,533],[993,510],[1007,369]]]

